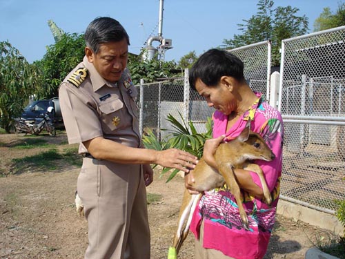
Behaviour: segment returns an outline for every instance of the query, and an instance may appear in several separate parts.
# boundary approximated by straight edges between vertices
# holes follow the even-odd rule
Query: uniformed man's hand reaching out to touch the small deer
[[[194,169],[198,160],[195,155],[181,151],[177,148],[170,148],[164,151],[157,151],[155,164],[164,167],[179,169],[188,173],[190,169]]]

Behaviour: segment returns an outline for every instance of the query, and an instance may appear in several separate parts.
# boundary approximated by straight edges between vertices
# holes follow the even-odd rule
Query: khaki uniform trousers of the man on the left
[[[77,191],[88,220],[88,259],[149,259],[146,186],[139,164],[83,158]]]

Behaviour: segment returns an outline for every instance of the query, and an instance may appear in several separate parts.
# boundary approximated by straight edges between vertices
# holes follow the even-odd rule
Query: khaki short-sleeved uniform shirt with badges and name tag
[[[68,81],[79,68],[88,75],[79,86]],[[126,69],[117,83],[106,81],[86,57],[63,80],[59,102],[68,143],[80,143],[79,153],[87,153],[81,142],[102,136],[120,144],[140,147],[137,89]]]

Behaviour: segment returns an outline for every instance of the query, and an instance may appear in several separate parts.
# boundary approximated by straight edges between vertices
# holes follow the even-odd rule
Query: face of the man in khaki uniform
[[[86,47],[86,57],[99,75],[110,82],[119,81],[128,60],[128,43],[126,39],[106,42],[99,46],[97,53]]]

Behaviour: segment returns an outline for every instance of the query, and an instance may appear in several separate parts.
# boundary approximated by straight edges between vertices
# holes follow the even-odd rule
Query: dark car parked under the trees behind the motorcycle
[[[39,118],[41,114],[47,112],[49,106],[52,106],[54,108],[52,113],[50,113],[52,122],[56,127],[63,127],[63,120],[58,97],[30,102],[30,104],[28,104],[28,106],[23,109],[24,111],[23,113],[21,113],[21,118],[26,120],[34,120],[36,118]]]

